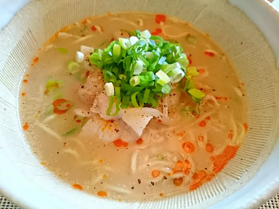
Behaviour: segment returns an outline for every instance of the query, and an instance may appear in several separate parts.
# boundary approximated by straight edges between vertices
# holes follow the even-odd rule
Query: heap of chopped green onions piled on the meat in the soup
[[[196,102],[204,93],[194,88],[196,67],[188,67],[189,60],[176,40],[163,40],[148,30],[130,32],[130,38],[112,41],[104,50],[95,49],[89,57],[92,64],[103,69],[106,83],[111,83],[110,104],[107,115],[116,115],[121,108],[158,106],[158,99],[171,92],[170,83],[179,84],[179,91],[186,91]],[[189,42],[192,37],[185,37]],[[71,71],[79,64],[71,61]],[[74,69],[74,70],[73,70]],[[183,79],[185,77],[185,79]],[[116,100],[116,109],[110,113]],[[150,107],[150,106],[149,106]]]

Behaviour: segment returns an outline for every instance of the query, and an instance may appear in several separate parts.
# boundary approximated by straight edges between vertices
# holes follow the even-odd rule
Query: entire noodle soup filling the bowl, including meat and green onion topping
[[[19,107],[35,155],[73,189],[143,200],[194,190],[235,156],[248,128],[243,85],[189,24],[108,14],[63,28],[39,50]]]

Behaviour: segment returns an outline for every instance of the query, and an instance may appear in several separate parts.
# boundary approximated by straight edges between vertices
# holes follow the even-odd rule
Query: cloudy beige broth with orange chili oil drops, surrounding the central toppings
[[[92,26],[100,26],[101,31]],[[147,29],[164,40],[179,42],[191,60],[189,66],[199,70],[195,86],[206,94],[205,99],[197,108],[186,93],[181,93],[178,104],[168,114],[176,120],[174,127],[166,127],[153,118],[147,126],[150,136],[130,141],[125,147],[105,143],[93,135],[62,136],[75,122],[73,110],[89,110],[92,106],[79,98],[81,79],[66,72],[68,62],[75,59],[81,45],[107,47],[121,29]],[[109,198],[144,200],[198,188],[235,155],[247,129],[243,84],[228,57],[208,35],[172,17],[158,24],[155,15],[146,13],[92,17],[65,32],[71,37],[56,35],[39,51],[26,71],[19,93],[25,136],[41,164],[55,175],[94,195],[102,196],[100,191],[105,191]],[[67,53],[58,48],[67,49]],[[214,56],[205,51],[214,52]],[[84,66],[84,75],[87,70],[88,65]],[[46,94],[49,79],[62,80],[63,85]],[[47,108],[59,96],[73,102],[74,107],[65,114],[49,117]],[[175,96],[171,91],[168,98],[172,101]],[[200,114],[196,115],[197,111]],[[192,145],[194,152],[189,151]],[[133,157],[137,159],[134,173]]]

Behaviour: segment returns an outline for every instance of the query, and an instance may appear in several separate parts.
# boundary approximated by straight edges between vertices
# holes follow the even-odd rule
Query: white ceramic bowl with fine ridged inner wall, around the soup
[[[267,1],[27,2],[0,2],[0,28],[4,27],[0,31],[1,193],[24,208],[234,209],[255,208],[278,192],[279,15]],[[208,33],[228,53],[245,83],[251,129],[244,143],[213,181],[185,195],[145,203],[90,196],[71,189],[41,166],[24,139],[17,111],[18,88],[38,48],[63,26],[88,16],[121,10],[162,12],[188,21]]]

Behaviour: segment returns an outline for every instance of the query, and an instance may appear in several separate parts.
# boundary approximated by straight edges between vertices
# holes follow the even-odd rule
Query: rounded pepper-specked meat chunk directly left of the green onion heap
[[[96,95],[104,90],[104,85],[102,71],[96,68],[90,73],[86,83],[78,88],[78,96],[83,102],[93,104]]]

